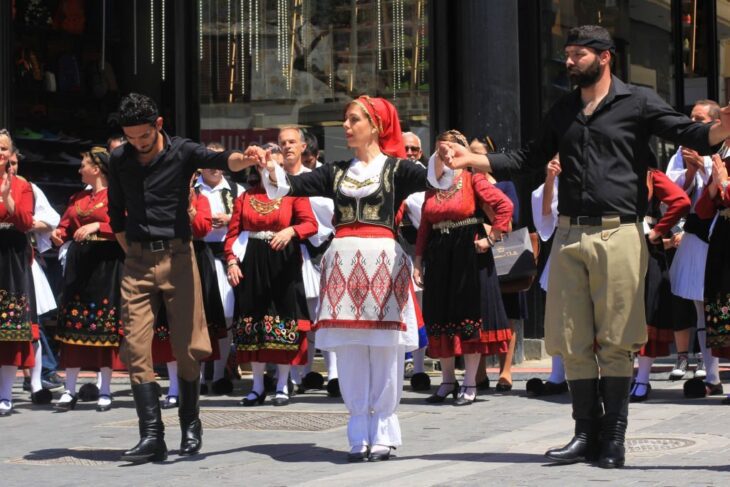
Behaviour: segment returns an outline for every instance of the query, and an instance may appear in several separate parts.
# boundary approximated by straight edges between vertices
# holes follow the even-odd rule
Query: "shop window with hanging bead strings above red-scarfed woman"
[[[391,100],[428,149],[426,0],[199,0],[197,9],[203,141],[240,148],[298,125],[326,160],[349,159],[343,109],[366,93]]]

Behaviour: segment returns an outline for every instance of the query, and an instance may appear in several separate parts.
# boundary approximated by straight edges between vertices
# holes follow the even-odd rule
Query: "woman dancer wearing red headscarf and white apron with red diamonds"
[[[395,240],[395,211],[409,194],[426,189],[426,169],[404,160],[398,112],[387,100],[353,100],[342,125],[355,158],[310,173],[287,176],[253,150],[265,167],[270,197],[291,193],[335,201],[335,238],[321,266],[317,346],[337,354],[350,411],[348,460],[379,461],[401,444],[395,411],[403,354],[418,348],[411,269]],[[451,185],[440,164],[429,171],[432,184]]]

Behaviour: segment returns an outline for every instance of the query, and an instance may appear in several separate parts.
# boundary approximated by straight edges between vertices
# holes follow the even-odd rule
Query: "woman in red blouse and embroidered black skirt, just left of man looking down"
[[[82,157],[81,182],[91,188],[71,197],[61,222],[51,233],[57,246],[71,242],[56,332],[56,340],[61,342],[59,366],[66,369],[66,391],[55,408],[68,411],[76,407],[76,380],[83,368],[101,371],[96,409],[108,411],[112,370],[124,369],[119,358],[124,251],[107,212],[109,153],[103,147],[92,147]]]

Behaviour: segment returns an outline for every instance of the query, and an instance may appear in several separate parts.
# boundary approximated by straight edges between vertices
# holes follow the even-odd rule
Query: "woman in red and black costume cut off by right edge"
[[[707,348],[712,355],[730,358],[730,179],[727,161],[730,150],[723,146],[722,159],[712,156],[712,177],[695,205],[695,213],[702,219],[710,219],[717,212],[714,227],[710,233],[705,266],[705,330]],[[719,211],[718,211],[719,210]],[[698,330],[699,334],[700,330]],[[707,361],[706,361],[707,363]],[[708,364],[709,365],[709,364]],[[707,368],[706,388],[708,394],[722,394],[719,367],[714,361]],[[730,395],[723,401],[730,404]]]

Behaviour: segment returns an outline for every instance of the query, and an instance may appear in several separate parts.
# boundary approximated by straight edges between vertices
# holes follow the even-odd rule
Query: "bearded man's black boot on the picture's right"
[[[603,440],[598,466],[620,468],[626,461],[624,441],[629,424],[631,377],[603,377],[600,387],[606,414],[603,416]]]

